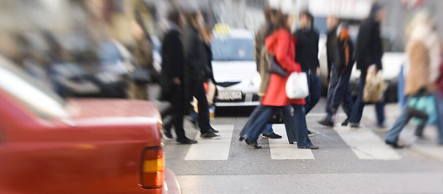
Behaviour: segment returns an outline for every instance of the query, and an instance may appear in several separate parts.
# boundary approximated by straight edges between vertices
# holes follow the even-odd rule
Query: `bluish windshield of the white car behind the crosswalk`
[[[214,39],[211,43],[214,61],[253,61],[253,39]]]

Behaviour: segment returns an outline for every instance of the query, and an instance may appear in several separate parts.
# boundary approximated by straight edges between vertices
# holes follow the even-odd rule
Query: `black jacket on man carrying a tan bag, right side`
[[[380,23],[377,23],[373,19],[367,19],[360,25],[357,37],[355,51],[357,69],[366,72],[370,65],[376,64],[377,69],[381,70],[382,55]]]

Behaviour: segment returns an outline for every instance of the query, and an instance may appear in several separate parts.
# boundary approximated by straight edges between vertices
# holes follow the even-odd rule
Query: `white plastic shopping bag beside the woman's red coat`
[[[286,96],[289,99],[301,99],[309,96],[306,73],[293,72],[286,80]]]

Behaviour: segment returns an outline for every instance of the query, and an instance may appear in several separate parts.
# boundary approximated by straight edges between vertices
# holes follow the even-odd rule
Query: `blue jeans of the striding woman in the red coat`
[[[289,143],[297,142],[297,147],[305,148],[312,145],[311,140],[308,137],[308,127],[306,125],[306,115],[304,105],[292,105],[294,107],[294,116],[290,116],[287,112],[290,111],[290,107],[277,107],[277,106],[263,106],[260,115],[258,115],[255,121],[252,121],[250,130],[246,134],[247,139],[251,142],[257,142],[260,132],[263,127],[266,126],[272,115],[274,115],[280,108],[284,108],[284,120],[286,125],[286,133]],[[286,114],[285,114],[286,112]],[[286,118],[286,119],[285,119]]]

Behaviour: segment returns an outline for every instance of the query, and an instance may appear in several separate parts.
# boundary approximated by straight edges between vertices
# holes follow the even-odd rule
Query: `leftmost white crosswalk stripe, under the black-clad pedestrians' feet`
[[[185,160],[227,160],[229,156],[229,148],[231,145],[232,132],[234,125],[223,124],[213,125],[219,130],[220,140],[202,139],[200,132],[197,133],[195,139],[197,144],[190,146]]]

